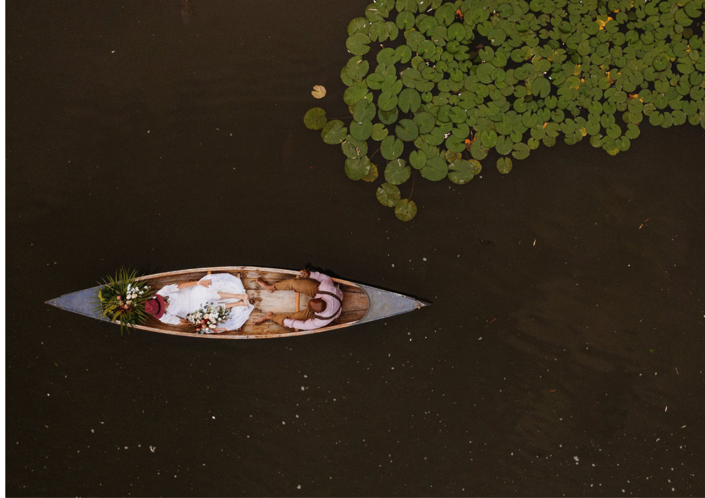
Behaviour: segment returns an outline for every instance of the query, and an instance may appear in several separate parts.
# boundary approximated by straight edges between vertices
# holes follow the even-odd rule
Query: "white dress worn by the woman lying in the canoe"
[[[194,285],[179,289],[176,284],[165,285],[157,291],[165,301],[168,301],[169,306],[164,311],[164,315],[159,318],[161,322],[178,325],[180,318],[185,319],[188,313],[196,311],[206,303],[219,304],[225,306],[228,303],[234,303],[239,299],[220,299],[219,292],[228,292],[228,294],[245,294],[243,282],[231,275],[230,273],[214,273],[206,275],[201,280],[211,280],[209,287],[202,285]],[[218,326],[226,328],[226,330],[235,330],[240,328],[243,323],[250,317],[250,313],[255,309],[255,306],[248,304],[247,306],[235,306],[231,308],[231,315],[228,321],[221,323]]]

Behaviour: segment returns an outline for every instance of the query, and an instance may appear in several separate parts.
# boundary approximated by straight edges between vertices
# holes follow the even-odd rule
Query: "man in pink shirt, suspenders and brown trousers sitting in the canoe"
[[[284,327],[296,328],[299,330],[313,330],[329,325],[333,320],[341,315],[343,303],[343,292],[336,287],[333,280],[323,273],[308,270],[301,270],[300,280],[290,278],[268,284],[261,277],[257,283],[262,285],[267,292],[275,290],[293,290],[312,297],[308,301],[307,308],[295,313],[272,313],[268,311],[255,320],[255,325],[271,320]]]

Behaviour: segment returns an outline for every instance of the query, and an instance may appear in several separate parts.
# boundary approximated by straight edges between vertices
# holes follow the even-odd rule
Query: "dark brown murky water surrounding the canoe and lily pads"
[[[400,223],[302,125],[366,4],[8,3],[8,495],[705,492],[702,130],[416,182]],[[434,306],[213,341],[43,304],[307,262]]]

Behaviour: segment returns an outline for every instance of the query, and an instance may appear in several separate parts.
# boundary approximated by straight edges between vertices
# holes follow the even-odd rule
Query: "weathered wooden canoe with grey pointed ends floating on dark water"
[[[286,280],[296,278],[299,273],[292,270],[278,270],[276,268],[258,268],[254,266],[219,266],[216,268],[197,268],[194,270],[171,271],[167,273],[156,273],[147,275],[138,280],[148,282],[152,290],[159,290],[164,285],[200,280],[209,273],[231,273],[243,281],[245,290],[250,296],[250,302],[255,305],[250,318],[239,330],[230,330],[219,334],[196,334],[188,325],[169,325],[161,323],[156,318],[149,316],[143,325],[135,325],[135,328],[142,330],[152,330],[153,332],[163,332],[165,334],[188,335],[190,337],[204,337],[207,339],[262,339],[267,337],[289,337],[292,335],[305,335],[314,332],[324,332],[337,328],[350,327],[360,323],[379,320],[388,316],[407,313],[415,309],[421,309],[428,303],[419,301],[413,297],[405,296],[388,290],[370,287],[369,285],[357,284],[348,280],[333,278],[333,282],[343,291],[343,311],[331,325],[314,330],[293,330],[282,327],[276,323],[268,321],[260,325],[253,322],[267,311],[274,313],[286,313],[303,309],[309,301],[305,294],[293,291],[266,292],[257,283],[257,278],[262,277],[266,282]],[[57,308],[73,311],[81,315],[108,321],[96,309],[98,291],[102,285],[91,287],[90,289],[64,294],[56,299],[47,301],[47,304]]]

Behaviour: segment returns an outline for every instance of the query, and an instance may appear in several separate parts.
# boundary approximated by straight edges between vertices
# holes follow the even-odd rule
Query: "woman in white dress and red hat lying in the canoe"
[[[240,328],[255,309],[248,301],[245,287],[239,278],[230,273],[214,273],[194,282],[161,287],[157,294],[145,303],[145,311],[152,313],[163,323],[188,325],[186,315],[207,303],[231,310],[230,318],[221,323],[214,332]]]

